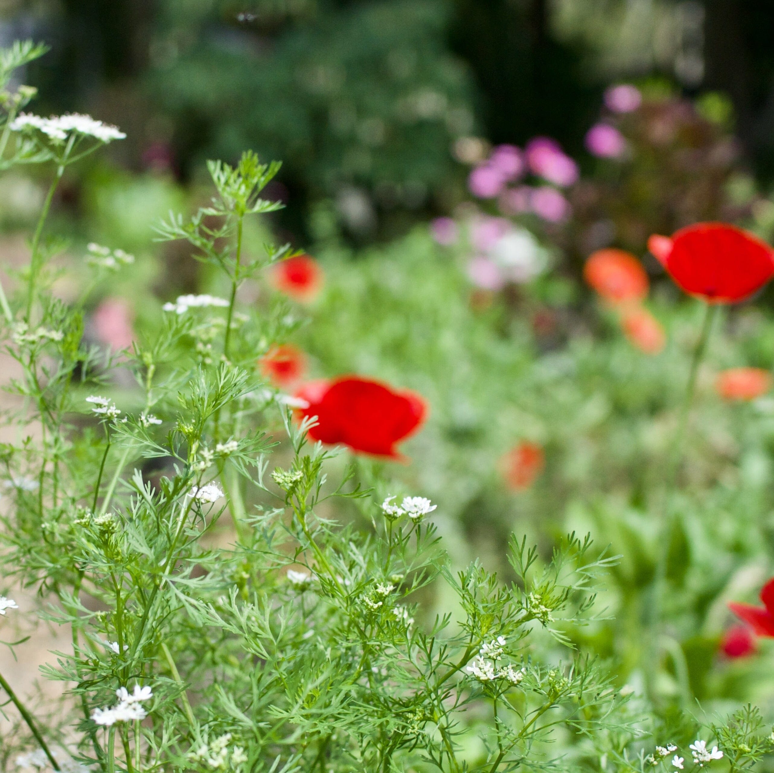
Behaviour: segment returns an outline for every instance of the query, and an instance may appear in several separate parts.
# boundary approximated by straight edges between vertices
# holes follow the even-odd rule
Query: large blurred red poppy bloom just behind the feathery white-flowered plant
[[[309,404],[299,410],[301,416],[317,417],[317,426],[309,431],[312,440],[391,459],[402,458],[396,444],[415,432],[427,415],[420,395],[359,376],[308,383],[296,397]]]

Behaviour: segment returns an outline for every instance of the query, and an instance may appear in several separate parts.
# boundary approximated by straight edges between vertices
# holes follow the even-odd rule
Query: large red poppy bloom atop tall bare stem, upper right
[[[707,303],[737,303],[774,276],[774,250],[752,233],[724,223],[696,223],[648,249],[676,284]]]

